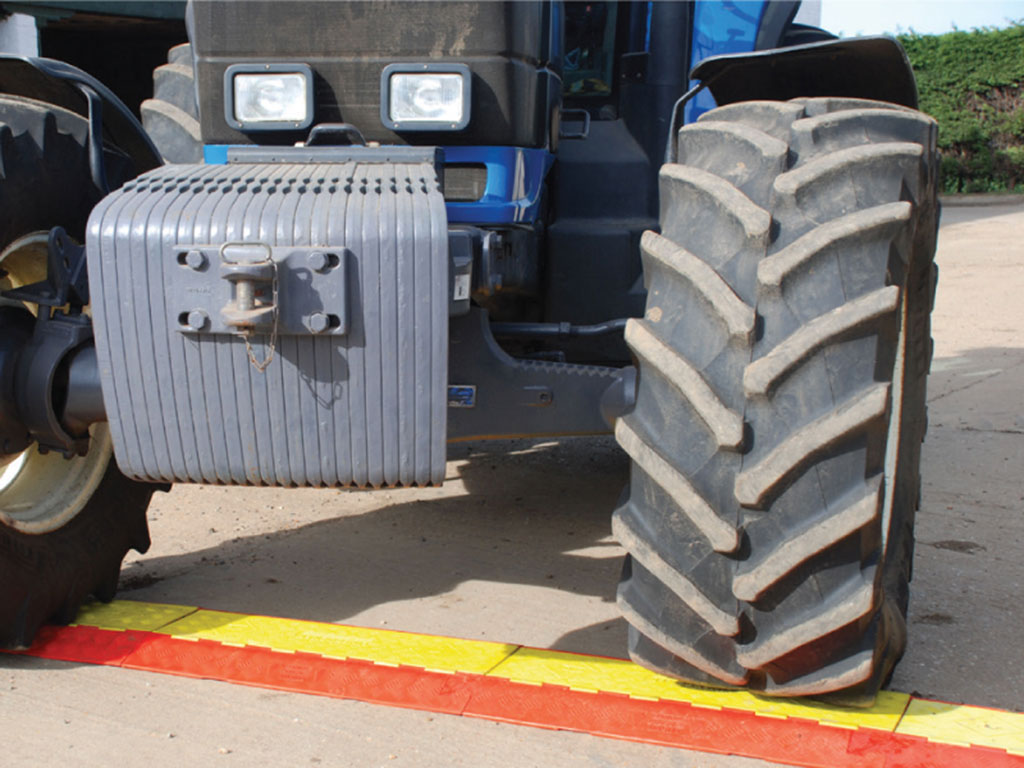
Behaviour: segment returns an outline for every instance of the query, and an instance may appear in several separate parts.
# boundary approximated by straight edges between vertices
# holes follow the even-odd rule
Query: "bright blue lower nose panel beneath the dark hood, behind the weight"
[[[227,162],[226,144],[207,144],[210,165]],[[555,162],[547,150],[518,146],[444,146],[447,163],[478,163],[487,169],[483,197],[474,203],[446,203],[449,223],[521,224],[537,220],[544,177]]]

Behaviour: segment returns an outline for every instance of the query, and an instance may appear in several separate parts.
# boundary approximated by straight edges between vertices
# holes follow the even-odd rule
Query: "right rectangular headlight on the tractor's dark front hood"
[[[465,65],[388,65],[381,75],[381,122],[393,131],[458,131],[469,124]]]

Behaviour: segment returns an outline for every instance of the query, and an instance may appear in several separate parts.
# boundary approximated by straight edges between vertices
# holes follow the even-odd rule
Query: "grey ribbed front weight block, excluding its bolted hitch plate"
[[[439,484],[446,230],[428,163],[165,166],[110,195],[89,219],[87,251],[121,470],[247,485]],[[261,373],[241,336],[180,328],[181,247],[224,243],[266,244],[275,261],[281,247],[347,249],[347,331],[279,335]],[[257,359],[269,342],[253,336]]]

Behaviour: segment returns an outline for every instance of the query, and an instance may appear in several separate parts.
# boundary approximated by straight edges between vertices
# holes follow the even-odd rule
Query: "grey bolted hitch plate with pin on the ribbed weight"
[[[167,287],[172,327],[185,334],[348,333],[346,248],[225,243],[179,245]]]

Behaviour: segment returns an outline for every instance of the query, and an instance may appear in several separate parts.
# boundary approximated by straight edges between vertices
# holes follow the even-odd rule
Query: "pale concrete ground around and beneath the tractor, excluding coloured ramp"
[[[1024,707],[1024,207],[947,206],[909,649],[893,687]],[[622,655],[609,438],[451,446],[441,488],[177,486],[121,596]],[[759,766],[124,670],[0,657],[3,762]]]

